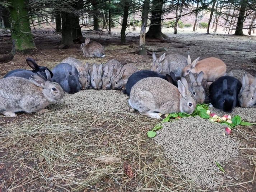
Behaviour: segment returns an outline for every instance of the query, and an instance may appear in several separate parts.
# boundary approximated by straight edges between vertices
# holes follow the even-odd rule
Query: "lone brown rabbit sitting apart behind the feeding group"
[[[90,42],[90,43],[89,43]],[[85,57],[105,57],[103,46],[96,42],[90,41],[90,38],[86,38],[85,42],[80,46]]]

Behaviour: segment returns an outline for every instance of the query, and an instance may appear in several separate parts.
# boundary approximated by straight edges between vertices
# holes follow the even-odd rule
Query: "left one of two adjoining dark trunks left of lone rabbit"
[[[72,13],[66,13],[61,12],[61,18],[62,18],[62,47],[61,48],[68,48],[70,45],[73,44],[73,28],[70,26],[73,23],[73,14]]]

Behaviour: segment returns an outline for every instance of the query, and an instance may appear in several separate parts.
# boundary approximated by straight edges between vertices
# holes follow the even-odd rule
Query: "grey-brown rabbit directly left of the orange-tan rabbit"
[[[166,75],[173,71],[177,78],[181,77],[181,70],[187,66],[187,58],[178,54],[165,55],[166,53],[157,59],[153,52],[151,70],[161,75]]]

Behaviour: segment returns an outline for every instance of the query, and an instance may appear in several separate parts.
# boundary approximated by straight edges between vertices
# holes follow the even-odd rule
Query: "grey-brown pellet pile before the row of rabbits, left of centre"
[[[117,90],[87,90],[64,97],[51,104],[50,109],[60,113],[70,111],[120,112],[128,111],[128,96]]]

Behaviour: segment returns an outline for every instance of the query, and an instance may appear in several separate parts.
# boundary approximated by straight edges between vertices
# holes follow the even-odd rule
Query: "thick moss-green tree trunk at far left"
[[[28,10],[25,8],[24,0],[8,0],[11,3],[10,23],[11,40],[13,42],[13,55],[16,52],[22,54],[33,54],[36,52],[33,35],[30,28]]]

